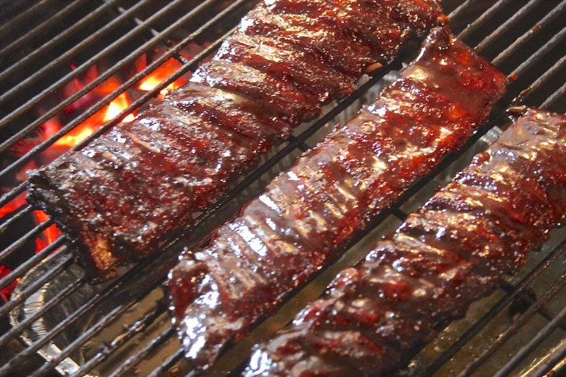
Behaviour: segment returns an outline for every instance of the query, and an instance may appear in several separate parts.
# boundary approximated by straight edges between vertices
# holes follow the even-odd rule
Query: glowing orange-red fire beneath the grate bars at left
[[[200,50],[202,50],[202,46],[196,44],[190,45],[187,47],[186,51],[183,51],[183,56],[188,59],[194,56],[194,54],[196,54]],[[154,55],[152,56],[158,56],[161,53],[162,52],[156,50],[153,52]],[[136,60],[134,69],[136,69],[137,71],[145,69],[147,66],[147,59],[148,55],[142,54]],[[86,120],[81,122],[81,124],[74,127],[74,129],[67,132],[67,134],[64,134],[62,137],[57,139],[57,141],[55,141],[50,148],[48,148],[40,155],[37,161],[30,161],[24,168],[22,168],[21,172],[18,172],[15,175],[15,180],[18,182],[23,182],[23,180],[27,179],[27,171],[29,169],[37,168],[37,166],[42,166],[45,163],[52,161],[52,159],[56,156],[59,156],[59,154],[62,153],[62,150],[71,149],[72,147],[81,143],[81,141],[85,140],[91,134],[96,132],[96,130],[101,125],[103,125],[105,122],[108,122],[109,120],[112,120],[114,117],[120,114],[120,112],[125,110],[132,103],[129,95],[138,95],[139,92],[137,90],[153,90],[154,88],[156,88],[156,86],[159,85],[159,83],[163,82],[165,79],[171,76],[171,74],[174,74],[175,71],[178,71],[180,67],[181,64],[177,60],[173,58],[168,59],[166,62],[161,64],[161,66],[158,66],[157,69],[152,71],[151,74],[145,76],[144,79],[139,82],[137,88],[130,88],[127,93],[121,93],[107,106],[101,108],[98,112],[94,113]],[[71,69],[75,68],[76,66],[71,64]],[[91,68],[88,69],[86,73],[83,74],[80,78],[73,79],[66,86],[64,86],[64,88],[62,88],[62,98],[69,98],[71,95],[74,95],[86,85],[88,85],[88,83],[91,83],[93,80],[95,80],[98,75],[98,67],[91,66]],[[167,91],[183,86],[187,82],[187,76],[188,74],[180,77],[173,83],[169,84],[166,88],[164,88],[160,92],[160,98],[163,98]],[[15,144],[13,148],[11,148],[11,152],[14,153],[15,156],[23,156],[24,153],[27,153],[28,151],[30,151],[30,149],[33,149],[33,147],[37,146],[37,144],[42,143],[43,141],[49,139],[54,134],[59,132],[59,130],[64,127],[63,125],[71,122],[76,114],[80,114],[91,105],[96,103],[96,101],[116,91],[123,82],[124,81],[118,79],[118,75],[115,75],[105,80],[103,83],[100,83],[98,86],[96,86],[96,88],[93,88],[91,91],[81,96],[81,98],[78,98],[73,103],[69,104],[67,108],[64,109],[64,112],[57,115],[57,117],[47,120],[47,122],[42,124],[37,137],[30,137],[24,139],[23,141],[18,141],[18,143]],[[135,114],[132,112],[131,114],[127,115],[122,120],[122,122],[132,122],[134,118]],[[8,202],[8,204],[4,205],[4,207],[0,207],[0,219],[13,213],[13,211],[16,211],[23,205],[25,205],[25,193],[18,195],[18,197],[13,199],[11,202]],[[43,211],[33,211],[33,218],[35,219],[35,221],[37,221],[37,224],[41,224],[42,222],[47,221],[49,219],[49,216]],[[62,232],[59,231],[57,226],[55,226],[54,224],[52,226],[49,226],[47,229],[45,229],[45,231],[42,231],[40,236],[35,239],[35,253],[39,253],[41,250],[45,249],[47,245],[53,243],[61,235]],[[0,279],[4,276],[8,276],[8,274],[11,273],[11,267],[13,266],[0,265]],[[7,301],[12,289],[16,286],[20,279],[20,277],[16,278],[10,286],[2,289],[0,291],[0,298],[4,299],[4,301]]]

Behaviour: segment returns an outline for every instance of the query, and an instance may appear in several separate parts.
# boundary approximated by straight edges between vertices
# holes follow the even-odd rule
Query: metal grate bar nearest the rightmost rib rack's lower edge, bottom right
[[[501,300],[499,300],[490,311],[485,313],[482,318],[475,321],[472,327],[470,327],[466,332],[463,333],[458,340],[452,344],[449,349],[446,349],[443,354],[441,354],[434,363],[431,364],[427,368],[427,371],[424,373],[427,376],[432,376],[436,371],[438,371],[441,366],[446,364],[446,361],[449,361],[456,352],[458,352],[464,344],[466,344],[469,340],[471,340],[475,335],[480,332],[480,330],[489,323],[490,320],[495,318],[498,313],[501,313],[505,306],[509,305],[519,294],[522,294],[530,285],[531,283],[541,275],[541,273],[553,262],[558,260],[558,258],[566,255],[566,243],[563,243],[558,248],[555,248],[550,254],[548,254],[544,260],[542,260],[529,274],[527,274],[519,284],[515,286],[514,291],[508,292]]]

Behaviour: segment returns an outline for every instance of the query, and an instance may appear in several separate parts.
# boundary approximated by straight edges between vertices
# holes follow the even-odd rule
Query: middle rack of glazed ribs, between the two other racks
[[[505,81],[448,28],[434,29],[418,59],[375,103],[304,153],[209,247],[187,253],[172,270],[171,310],[187,356],[209,365],[227,342],[337,257],[468,139]]]

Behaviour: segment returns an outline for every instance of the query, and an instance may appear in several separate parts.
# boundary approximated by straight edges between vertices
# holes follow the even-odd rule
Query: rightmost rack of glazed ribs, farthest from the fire
[[[247,376],[375,376],[495,290],[566,215],[566,117],[528,110],[491,148],[345,269]]]

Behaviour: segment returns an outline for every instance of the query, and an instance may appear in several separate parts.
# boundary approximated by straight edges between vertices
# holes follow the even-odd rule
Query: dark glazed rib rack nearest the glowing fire
[[[437,0],[256,6],[185,87],[30,176],[91,277],[149,255],[367,69],[444,22]]]

